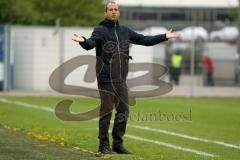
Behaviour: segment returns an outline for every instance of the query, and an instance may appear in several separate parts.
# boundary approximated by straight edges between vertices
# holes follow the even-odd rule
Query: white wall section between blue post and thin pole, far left
[[[54,28],[13,27],[14,89],[50,90],[48,78],[59,65],[59,37]]]

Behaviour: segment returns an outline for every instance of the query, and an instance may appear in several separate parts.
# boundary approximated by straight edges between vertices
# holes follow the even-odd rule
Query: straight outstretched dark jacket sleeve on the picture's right
[[[155,36],[144,36],[137,32],[134,32],[128,28],[130,34],[130,40],[133,44],[144,45],[144,46],[153,46],[155,44],[167,41],[166,34],[159,34]]]

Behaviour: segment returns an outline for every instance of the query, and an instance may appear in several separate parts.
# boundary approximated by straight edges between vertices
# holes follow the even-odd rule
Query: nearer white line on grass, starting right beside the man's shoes
[[[135,140],[138,140],[138,141],[154,143],[154,144],[158,144],[158,145],[165,146],[165,147],[168,147],[168,148],[173,148],[173,149],[176,149],[176,150],[195,153],[195,154],[198,154],[198,155],[201,155],[201,156],[218,157],[217,155],[214,155],[214,154],[210,154],[210,153],[206,153],[206,152],[202,152],[202,151],[198,151],[198,150],[190,149],[190,148],[183,148],[183,147],[176,146],[176,145],[166,143],[166,142],[161,142],[161,141],[156,141],[156,140],[152,140],[152,139],[142,138],[142,137],[129,135],[129,134],[126,134],[125,136],[130,138],[130,139],[135,139]]]

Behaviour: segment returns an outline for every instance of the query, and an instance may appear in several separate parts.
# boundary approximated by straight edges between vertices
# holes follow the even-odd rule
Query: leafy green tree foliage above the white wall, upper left
[[[0,24],[92,26],[103,11],[102,0],[1,0]]]

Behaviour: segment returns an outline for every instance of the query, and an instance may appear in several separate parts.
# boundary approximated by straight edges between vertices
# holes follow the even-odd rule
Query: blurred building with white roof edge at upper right
[[[233,24],[238,0],[116,0],[129,26],[182,29],[200,25],[208,30]]]

